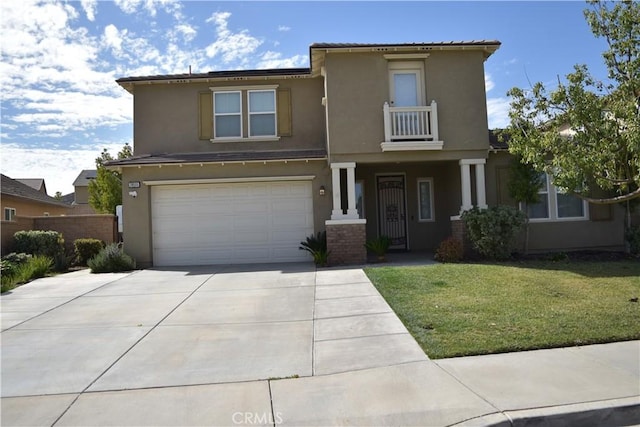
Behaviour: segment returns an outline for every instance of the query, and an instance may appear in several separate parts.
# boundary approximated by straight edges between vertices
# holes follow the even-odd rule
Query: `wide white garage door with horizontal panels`
[[[152,187],[156,266],[308,261],[310,181]]]

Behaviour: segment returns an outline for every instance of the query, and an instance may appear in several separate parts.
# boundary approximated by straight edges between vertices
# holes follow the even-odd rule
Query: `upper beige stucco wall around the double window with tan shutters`
[[[198,93],[210,87],[274,85],[291,90],[292,136],[279,141],[216,142],[198,138]],[[134,153],[186,153],[325,148],[321,78],[136,85]],[[243,102],[246,107],[246,102]],[[246,116],[245,116],[246,120]]]

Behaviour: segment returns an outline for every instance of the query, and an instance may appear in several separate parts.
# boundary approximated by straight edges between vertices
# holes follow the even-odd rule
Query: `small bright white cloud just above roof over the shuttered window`
[[[237,61],[240,65],[246,65],[262,40],[251,36],[247,30],[237,33],[229,30],[230,17],[229,12],[216,12],[207,19],[207,23],[213,22],[216,26],[216,40],[206,47],[205,52],[209,58],[221,56],[224,63]]]

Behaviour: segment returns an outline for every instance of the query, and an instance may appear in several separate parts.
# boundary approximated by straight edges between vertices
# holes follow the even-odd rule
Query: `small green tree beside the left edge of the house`
[[[125,144],[117,156],[119,160],[133,156],[131,146]],[[96,212],[115,214],[116,206],[122,204],[122,174],[105,167],[110,160],[114,158],[106,148],[96,158],[96,178],[89,181],[89,204]]]

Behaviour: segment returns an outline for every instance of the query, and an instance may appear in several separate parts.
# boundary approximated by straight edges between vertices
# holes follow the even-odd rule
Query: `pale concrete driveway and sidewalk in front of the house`
[[[431,361],[361,269],[40,279],[1,297],[2,425],[633,425],[640,342]]]

